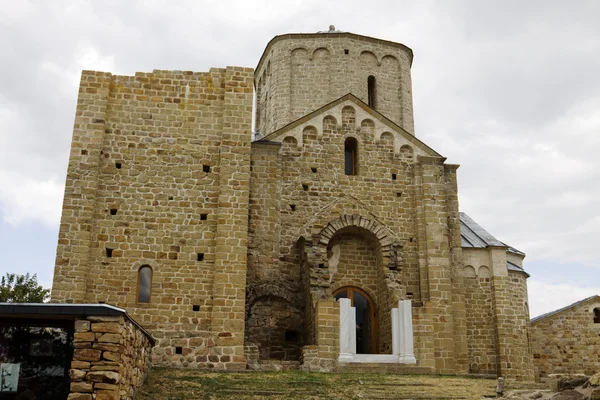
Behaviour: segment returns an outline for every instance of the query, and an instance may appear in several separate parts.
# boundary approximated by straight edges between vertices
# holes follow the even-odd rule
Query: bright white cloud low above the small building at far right
[[[600,295],[600,286],[581,287],[568,283],[552,284],[532,278],[527,283],[529,314],[532,318],[568,306],[586,297]]]

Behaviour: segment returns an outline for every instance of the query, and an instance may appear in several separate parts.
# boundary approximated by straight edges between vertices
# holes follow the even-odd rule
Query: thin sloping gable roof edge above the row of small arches
[[[384,125],[387,125],[390,128],[390,130],[398,132],[405,140],[407,140],[408,142],[413,144],[416,148],[421,149],[424,153],[427,153],[429,156],[442,157],[438,152],[433,150],[431,147],[426,145],[424,142],[422,142],[421,140],[417,139],[415,136],[413,136],[410,133],[408,133],[407,131],[405,131],[401,126],[397,125],[395,122],[388,119],[385,115],[383,115],[380,112],[369,107],[368,104],[363,102],[358,97],[354,96],[352,93],[348,93],[348,94],[340,97],[339,99],[332,101],[329,104],[325,104],[323,107],[318,108],[315,111],[313,111],[309,114],[306,114],[305,116],[298,118],[295,121],[290,122],[289,124],[277,129],[274,132],[269,133],[264,138],[257,140],[254,143],[260,143],[262,141],[276,141],[276,138],[278,136],[284,134],[287,131],[290,131],[290,130],[296,128],[299,125],[307,123],[308,121],[315,118],[319,114],[324,114],[327,111],[333,109],[334,107],[340,105],[341,103],[343,103],[345,101],[350,101],[350,102],[354,103],[356,106],[360,107],[362,110],[364,110],[366,113],[368,113],[371,117],[377,119]]]

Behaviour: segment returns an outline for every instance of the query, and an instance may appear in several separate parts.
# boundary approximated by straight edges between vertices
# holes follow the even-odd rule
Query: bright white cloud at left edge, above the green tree
[[[64,185],[56,179],[36,180],[0,170],[0,213],[6,223],[41,223],[53,228],[60,221]]]

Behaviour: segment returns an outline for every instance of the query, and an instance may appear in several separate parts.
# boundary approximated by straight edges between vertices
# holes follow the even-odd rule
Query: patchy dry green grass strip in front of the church
[[[481,399],[496,381],[460,376],[361,373],[211,372],[154,368],[139,400]]]

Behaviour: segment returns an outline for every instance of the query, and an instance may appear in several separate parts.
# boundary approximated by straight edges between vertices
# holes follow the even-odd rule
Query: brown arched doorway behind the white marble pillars
[[[356,309],[356,353],[379,353],[377,310],[371,297],[354,286],[339,288],[333,297],[336,300],[350,299],[350,305]]]

